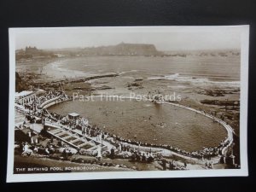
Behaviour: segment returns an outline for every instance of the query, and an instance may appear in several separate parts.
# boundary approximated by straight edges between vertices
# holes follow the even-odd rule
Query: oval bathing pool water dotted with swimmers
[[[62,102],[50,111],[67,115],[76,112],[91,125],[126,139],[143,143],[168,144],[186,151],[216,147],[227,135],[224,127],[212,119],[169,104],[125,99]]]

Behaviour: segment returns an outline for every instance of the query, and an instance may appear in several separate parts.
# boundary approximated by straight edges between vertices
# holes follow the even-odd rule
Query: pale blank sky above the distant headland
[[[84,48],[123,42],[154,44],[162,51],[240,49],[240,34],[236,26],[17,28],[15,48]]]

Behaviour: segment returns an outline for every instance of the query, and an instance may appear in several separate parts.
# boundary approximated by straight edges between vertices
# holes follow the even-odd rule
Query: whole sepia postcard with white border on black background
[[[7,182],[247,176],[248,31],[10,28]]]

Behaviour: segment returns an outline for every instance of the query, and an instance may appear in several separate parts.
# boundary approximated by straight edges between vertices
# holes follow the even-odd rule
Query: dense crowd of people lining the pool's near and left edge
[[[63,102],[70,99],[62,90],[49,90],[41,96],[37,96],[34,101],[26,103],[26,108],[33,109],[27,113],[27,119],[35,119],[35,117],[45,121],[54,122],[59,125],[65,125],[69,128],[81,131],[82,135],[95,137],[98,141],[106,141],[114,146],[115,156],[130,158],[132,161],[151,162],[155,158],[151,148],[164,148],[171,150],[177,154],[197,158],[199,160],[210,160],[212,157],[221,153],[221,150],[229,144],[229,140],[222,142],[215,148],[203,148],[199,151],[188,152],[179,148],[166,144],[142,143],[132,139],[119,137],[113,133],[102,131],[97,125],[90,125],[88,119],[78,117],[77,119],[69,119],[58,113],[52,113],[48,109],[41,108],[44,103],[49,100],[56,99],[55,102]],[[135,146],[144,147],[139,150]],[[109,152],[109,155],[111,152]],[[111,154],[112,155],[112,154]]]

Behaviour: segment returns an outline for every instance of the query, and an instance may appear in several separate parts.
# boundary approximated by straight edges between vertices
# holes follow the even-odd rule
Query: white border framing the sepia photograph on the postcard
[[[52,27],[52,28],[10,28],[9,29],[9,142],[7,182],[62,181],[85,179],[119,179],[119,178],[155,178],[155,177],[233,177],[247,176],[247,91],[248,91],[248,46],[249,26],[135,26],[143,32],[148,30],[166,30],[193,32],[236,29],[241,32],[241,117],[240,117],[240,153],[241,169],[225,170],[188,170],[188,171],[143,171],[143,172],[72,172],[72,173],[37,173],[14,174],[14,141],[15,141],[15,37],[19,32],[55,32],[75,30],[127,30],[133,26],[114,27]],[[151,32],[152,32],[151,31]]]

